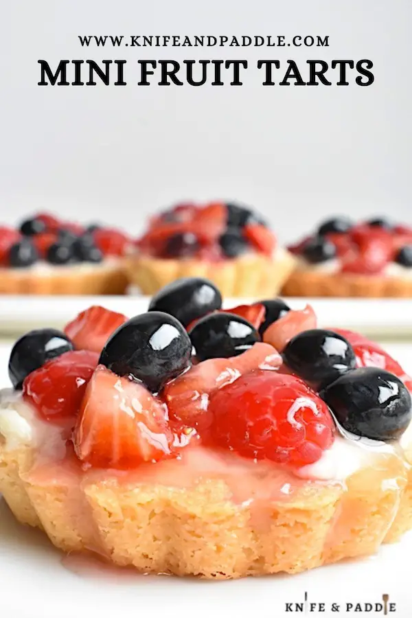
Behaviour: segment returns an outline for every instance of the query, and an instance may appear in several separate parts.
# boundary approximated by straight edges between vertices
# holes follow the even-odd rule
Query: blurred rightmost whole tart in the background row
[[[412,227],[335,218],[288,249],[298,263],[286,296],[412,297]]]

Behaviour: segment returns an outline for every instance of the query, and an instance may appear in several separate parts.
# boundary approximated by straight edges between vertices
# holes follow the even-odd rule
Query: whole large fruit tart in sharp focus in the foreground
[[[0,491],[63,551],[143,573],[297,573],[412,527],[411,380],[280,299],[183,279],[13,347]]]

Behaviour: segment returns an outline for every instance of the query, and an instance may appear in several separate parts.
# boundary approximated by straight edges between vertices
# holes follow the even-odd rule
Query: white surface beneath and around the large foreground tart
[[[412,372],[412,346],[386,345],[406,371]],[[0,343],[0,386],[8,385],[10,345]],[[129,571],[95,568],[80,562],[67,569],[62,554],[39,531],[21,527],[0,501],[0,615],[3,618],[167,618],[258,616],[278,618],[286,603],[324,602],[323,613],[336,617],[330,604],[378,603],[382,594],[396,603],[396,614],[412,609],[410,557],[412,534],[378,556],[322,567],[301,575],[275,575],[236,582],[141,577]],[[83,566],[82,566],[83,564]],[[353,612],[353,610],[352,610]],[[382,613],[381,613],[382,614]],[[358,614],[356,614],[358,615]],[[376,615],[369,613],[367,615]],[[389,614],[391,615],[391,614]]]

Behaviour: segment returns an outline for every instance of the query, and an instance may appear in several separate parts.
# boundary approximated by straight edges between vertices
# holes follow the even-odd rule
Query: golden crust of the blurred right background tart
[[[284,296],[411,298],[412,279],[324,273],[298,268],[282,288]]]

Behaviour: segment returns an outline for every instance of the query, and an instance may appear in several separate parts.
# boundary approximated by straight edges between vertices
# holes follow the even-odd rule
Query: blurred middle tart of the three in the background
[[[130,280],[152,295],[181,277],[207,277],[225,297],[275,295],[295,260],[249,208],[180,204],[150,221],[129,261]]]

